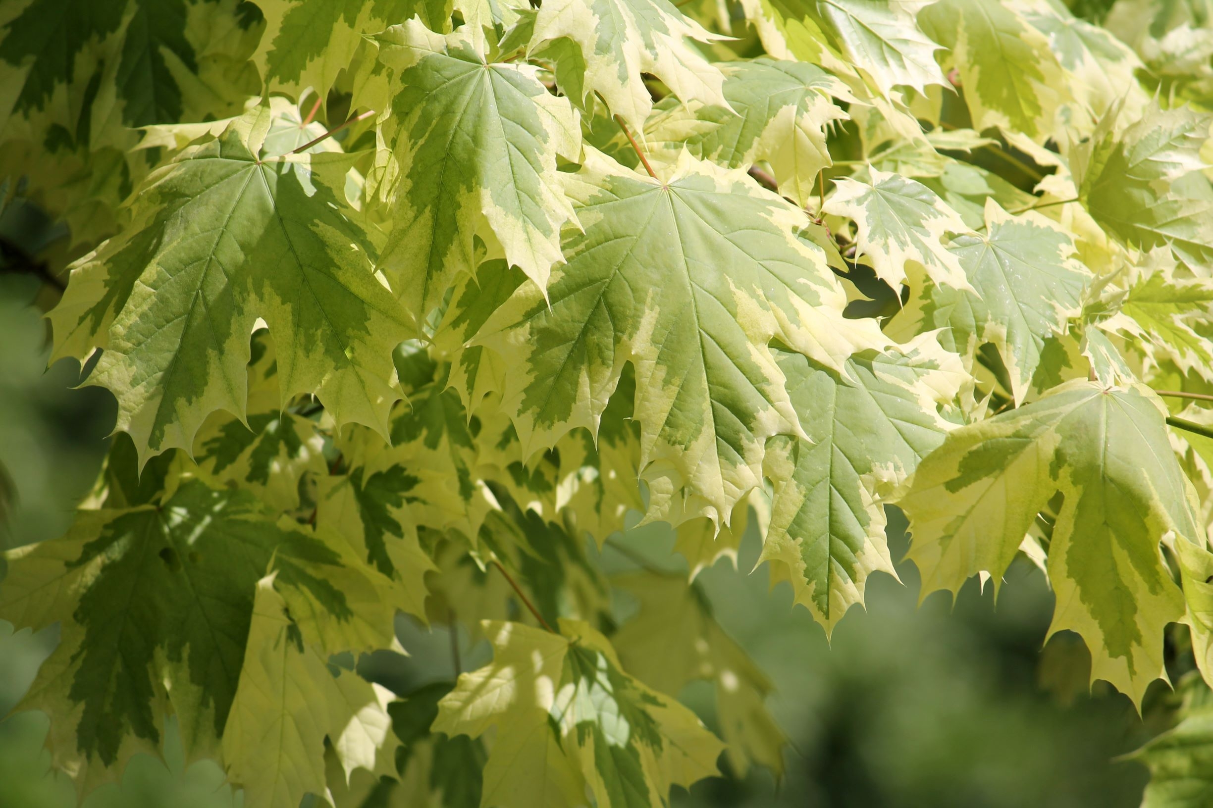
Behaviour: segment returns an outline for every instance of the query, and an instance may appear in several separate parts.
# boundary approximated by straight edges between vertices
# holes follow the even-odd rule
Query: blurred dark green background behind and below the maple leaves
[[[19,199],[0,214],[0,235],[10,243],[38,244],[53,237],[50,227],[22,210]],[[114,404],[96,388],[74,388],[80,369],[73,363],[46,369],[50,342],[41,311],[56,292],[25,264],[16,273],[12,263],[0,273],[0,546],[16,547],[67,528],[99,468]],[[906,540],[904,520],[892,516],[896,557]],[[659,567],[673,569],[679,561],[662,525],[630,530],[620,541]],[[748,535],[740,568],[750,569],[757,553],[757,537]],[[633,565],[611,547],[598,561],[608,571]],[[992,587],[981,592],[976,581],[962,590],[955,608],[945,593],[919,607],[916,570],[902,564],[899,575],[901,584],[876,576],[869,610],[852,610],[827,643],[804,609],[792,609],[786,585],[769,590],[765,568],[746,575],[722,562],[701,574],[717,619],[774,682],[769,706],[791,744],[782,783],[764,770],[723,776],[674,795],[677,806],[1140,804],[1146,772],[1117,757],[1167,726],[1174,694],[1156,683],[1143,719],[1103,683],[1088,692],[1089,661],[1074,636],[1054,637],[1042,654],[1052,594],[1027,562],[1012,568],[997,608]],[[628,608],[621,599],[620,619]],[[410,734],[423,736],[416,723],[418,717],[423,723],[425,705],[444,692],[442,683],[449,685],[454,658],[445,630],[403,618],[398,627],[410,656],[382,651],[360,660],[359,671],[402,696],[417,694],[395,713],[398,734],[408,742]],[[7,716],[0,722],[0,808],[76,804],[72,784],[51,773],[42,747],[46,717],[12,712],[56,639],[53,631],[13,633],[0,622],[0,717]],[[463,670],[488,656],[483,642],[460,636],[459,645]],[[700,684],[689,685],[683,698],[712,726],[713,699]],[[454,744],[446,752],[462,758],[477,749]],[[215,764],[184,764],[171,732],[163,758],[136,758],[121,784],[90,795],[84,807],[243,804]],[[465,785],[448,791],[450,808],[477,808],[477,784]],[[368,807],[409,804],[386,785],[368,791]]]

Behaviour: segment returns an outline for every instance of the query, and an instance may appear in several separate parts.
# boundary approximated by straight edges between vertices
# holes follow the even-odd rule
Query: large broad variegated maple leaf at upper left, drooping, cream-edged
[[[340,153],[258,158],[251,112],[141,186],[132,223],[74,269],[51,314],[55,357],[104,353],[90,383],[119,402],[141,461],[189,449],[218,409],[246,411],[249,338],[262,318],[283,404],[314,393],[340,426],[387,431],[400,398],[392,348],[408,320],[371,272]]]

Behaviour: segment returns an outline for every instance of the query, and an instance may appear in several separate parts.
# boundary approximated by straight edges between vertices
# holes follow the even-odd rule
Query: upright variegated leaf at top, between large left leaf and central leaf
[[[385,137],[400,180],[383,268],[406,306],[421,318],[472,273],[475,237],[546,286],[573,218],[557,154],[581,150],[568,99],[533,66],[488,64],[468,28],[442,36],[414,19],[376,41],[398,81]]]

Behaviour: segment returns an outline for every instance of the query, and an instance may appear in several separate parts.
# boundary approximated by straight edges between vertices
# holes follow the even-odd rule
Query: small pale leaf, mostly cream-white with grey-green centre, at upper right
[[[915,180],[869,169],[871,183],[836,180],[825,211],[844,216],[859,229],[855,256],[871,261],[894,289],[906,280],[906,262],[916,261],[936,284],[972,289],[959,258],[945,243],[946,233],[968,233],[956,211]]]

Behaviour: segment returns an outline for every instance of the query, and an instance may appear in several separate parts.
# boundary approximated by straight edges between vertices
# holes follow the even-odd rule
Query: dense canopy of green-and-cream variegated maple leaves
[[[81,792],[172,717],[255,808],[656,808],[784,766],[696,574],[754,531],[828,633],[898,506],[923,596],[1026,554],[1135,704],[1190,647],[1141,758],[1208,804],[1211,59],[1207,0],[5,2],[119,433],[4,557],[19,709]],[[604,575],[636,514],[689,577]],[[398,699],[400,611],[491,661]]]

